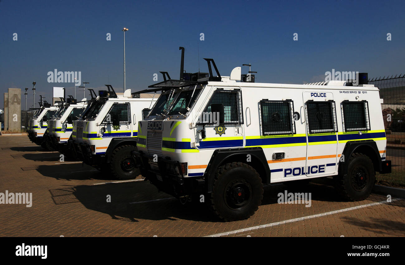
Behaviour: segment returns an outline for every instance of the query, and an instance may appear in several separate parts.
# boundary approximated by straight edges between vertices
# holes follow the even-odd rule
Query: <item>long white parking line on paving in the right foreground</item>
[[[402,200],[402,199],[400,199],[400,198],[392,199],[392,201],[400,201],[400,200]],[[307,219],[312,219],[312,218],[316,218],[316,217],[320,217],[320,216],[337,214],[337,213],[340,213],[340,212],[347,212],[347,211],[351,211],[351,210],[356,210],[356,209],[360,209],[360,208],[376,206],[376,205],[381,205],[381,204],[386,204],[386,203],[387,203],[387,201],[379,201],[379,202],[375,202],[375,203],[372,203],[372,204],[364,204],[364,205],[354,206],[354,207],[345,208],[345,209],[341,209],[341,210],[335,210],[335,211],[331,211],[331,212],[324,212],[322,214],[313,214],[313,215],[309,215],[309,216],[298,217],[298,218],[294,218],[294,219],[290,219],[290,220],[284,220],[284,221],[275,222],[275,223],[270,223],[270,224],[266,224],[266,225],[258,225],[258,226],[254,226],[254,227],[247,227],[247,228],[244,228],[244,229],[238,229],[238,230],[224,232],[224,233],[218,233],[218,234],[214,234],[214,235],[206,235],[205,237],[220,237],[220,236],[223,236],[223,235],[233,235],[233,234],[237,234],[237,233],[242,233],[242,232],[246,232],[246,231],[260,229],[260,228],[272,227],[272,226],[276,226],[276,225],[284,225],[286,223],[294,223],[294,222],[307,220]]]

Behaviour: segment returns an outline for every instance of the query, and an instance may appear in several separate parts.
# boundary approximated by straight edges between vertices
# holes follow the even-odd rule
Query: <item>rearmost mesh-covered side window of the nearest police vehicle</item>
[[[369,103],[363,101],[342,102],[343,131],[370,130]]]

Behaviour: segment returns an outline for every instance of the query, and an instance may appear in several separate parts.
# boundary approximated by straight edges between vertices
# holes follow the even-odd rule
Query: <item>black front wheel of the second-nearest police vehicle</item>
[[[132,145],[123,145],[115,148],[111,155],[111,173],[118,179],[127,180],[136,178],[141,174],[135,166],[135,161],[131,156],[131,151],[136,150]]]

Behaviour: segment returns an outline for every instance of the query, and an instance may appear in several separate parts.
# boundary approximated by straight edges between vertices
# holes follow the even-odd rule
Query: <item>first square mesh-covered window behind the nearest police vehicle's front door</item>
[[[260,101],[262,135],[295,134],[292,100]]]

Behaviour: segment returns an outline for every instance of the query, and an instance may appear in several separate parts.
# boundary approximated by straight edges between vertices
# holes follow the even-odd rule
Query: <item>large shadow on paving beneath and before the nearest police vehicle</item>
[[[109,214],[111,218],[129,222],[146,220],[193,220],[221,222],[199,201],[182,205],[178,199],[160,192],[148,181],[110,183],[104,185],[80,185],[73,194],[87,209]],[[277,204],[277,194],[288,192],[311,192],[312,200],[341,201],[333,187],[309,184],[299,189],[286,189],[285,185],[268,186],[264,189],[262,205]],[[107,198],[111,196],[111,202]],[[156,201],[152,201],[156,200]]]

